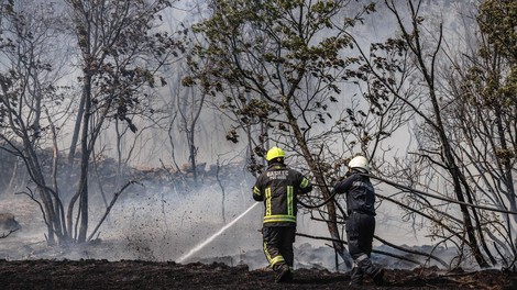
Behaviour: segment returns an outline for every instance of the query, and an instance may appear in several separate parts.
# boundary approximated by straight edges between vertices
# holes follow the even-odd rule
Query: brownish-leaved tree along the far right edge
[[[476,18],[475,46],[463,57],[451,57],[447,123],[451,127],[462,174],[476,192],[497,209],[517,212],[515,192],[516,101],[513,97],[517,64],[514,33],[517,13],[508,2],[485,1]],[[494,24],[496,23],[496,24]],[[497,25],[494,29],[494,25]],[[517,257],[517,214],[480,211],[483,232],[492,239],[501,261],[509,266]]]

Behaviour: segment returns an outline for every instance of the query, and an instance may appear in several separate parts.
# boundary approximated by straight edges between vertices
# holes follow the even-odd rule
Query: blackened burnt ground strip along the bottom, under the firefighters
[[[386,270],[386,286],[361,289],[517,289],[516,274],[437,268]],[[295,270],[293,283],[275,285],[273,272],[224,264],[143,260],[0,260],[0,289],[351,289],[348,272]]]

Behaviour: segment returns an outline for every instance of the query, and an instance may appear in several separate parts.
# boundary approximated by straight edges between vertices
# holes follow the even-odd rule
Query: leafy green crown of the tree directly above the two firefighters
[[[354,8],[351,15],[348,3],[213,0],[211,16],[193,30],[200,41],[184,85],[202,86],[220,100],[219,109],[234,114],[235,127],[257,132],[257,144],[282,137],[305,143],[314,124],[339,114],[330,111],[333,103],[349,101],[338,97],[343,83],[366,78],[360,59],[348,56],[353,40],[346,30],[375,7]],[[351,23],[343,23],[348,16]]]

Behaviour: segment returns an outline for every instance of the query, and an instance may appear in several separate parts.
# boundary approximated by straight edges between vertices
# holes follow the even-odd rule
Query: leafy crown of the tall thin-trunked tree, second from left
[[[185,52],[182,34],[156,30],[163,9],[169,1],[90,1],[74,0],[74,25],[82,53],[84,86],[90,88],[91,113],[113,115],[128,121],[135,112],[152,111],[145,89],[163,87],[167,81],[156,71]],[[189,83],[188,81],[185,83]],[[191,83],[191,82],[190,82]]]

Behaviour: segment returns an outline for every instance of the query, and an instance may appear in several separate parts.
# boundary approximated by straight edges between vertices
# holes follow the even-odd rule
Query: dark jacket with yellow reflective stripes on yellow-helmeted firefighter
[[[298,194],[312,190],[309,180],[282,163],[274,163],[256,179],[253,199],[264,202],[264,226],[296,226]]]

